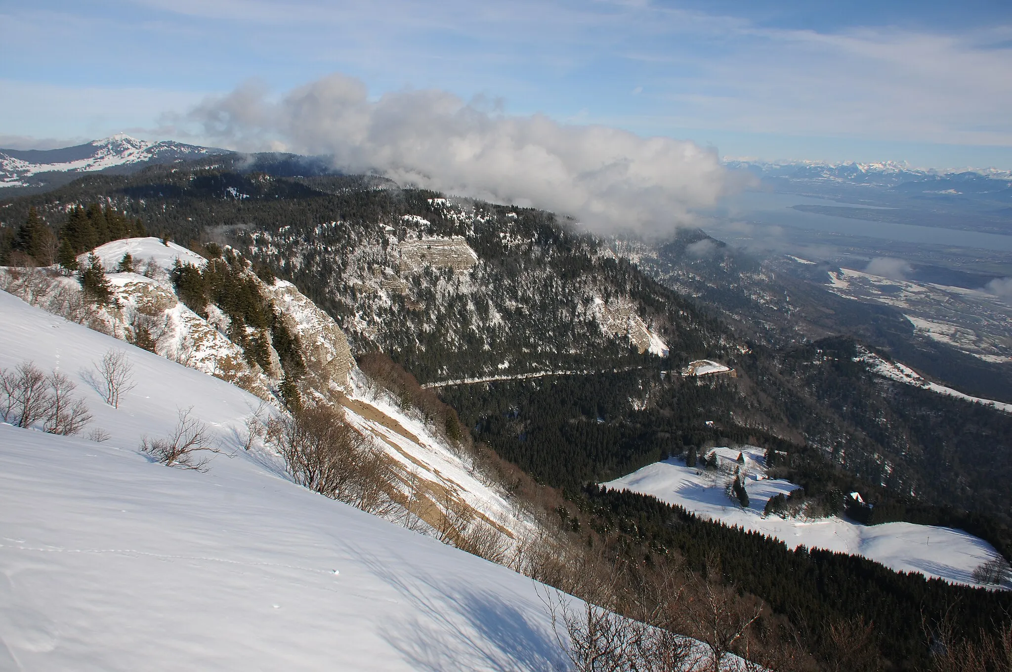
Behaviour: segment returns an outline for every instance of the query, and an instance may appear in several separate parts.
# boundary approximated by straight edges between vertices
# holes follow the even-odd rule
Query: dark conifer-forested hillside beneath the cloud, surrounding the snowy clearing
[[[586,487],[667,455],[752,444],[827,515],[843,513],[844,495],[858,491],[882,512],[875,519],[851,511],[868,522],[958,525],[1012,555],[1012,495],[1002,487],[1010,476],[1012,416],[877,376],[849,337],[784,340],[787,327],[774,324],[779,299],[743,298],[762,279],[762,266],[725,267],[726,295],[689,290],[691,283],[664,286],[627,250],[616,254],[549,213],[371,177],[316,169],[300,175],[303,165],[291,157],[238,161],[89,176],[0,202],[0,252],[5,260],[60,260],[53,251],[61,246],[76,252],[87,245],[74,233],[80,218],[113,218],[193,249],[234,245],[257,273],[292,281],[330,313],[354,354],[388,353],[434,386],[476,440],[564,490],[574,517],[560,513],[561,524],[578,541],[603,543],[625,563],[684,558],[702,572],[700,559],[715,554],[728,583],[811,631],[817,656],[830,655],[821,647],[834,619],[863,615],[884,628],[873,638],[876,651],[898,665],[924,661],[930,643],[911,625],[923,605],[935,619],[952,600],[982,600],[987,617],[1006,605],[998,594],[898,577],[867,561],[798,555],[645,498]],[[36,239],[50,243],[31,243]],[[699,240],[706,239],[673,245],[684,251]],[[228,259],[216,264],[196,277],[176,269],[184,302],[192,296],[199,306],[214,296],[222,306],[235,303],[233,318],[270,333],[272,317],[243,303],[243,287],[230,284]],[[718,310],[720,296],[726,307]],[[725,321],[735,297],[742,302],[738,325]],[[757,305],[772,326],[743,330]],[[283,335],[271,339],[280,355]],[[256,361],[256,344],[244,348]],[[683,371],[699,358],[731,370]],[[798,583],[791,573],[807,578]],[[788,585],[795,583],[815,588]],[[862,600],[832,602],[833,586],[843,585],[886,595],[882,610]],[[822,597],[809,608],[802,595],[812,591]],[[959,627],[971,633],[982,623],[967,616]]]

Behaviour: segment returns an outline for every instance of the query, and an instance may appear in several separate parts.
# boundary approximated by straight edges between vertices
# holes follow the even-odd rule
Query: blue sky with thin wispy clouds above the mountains
[[[1012,3],[0,1],[0,146],[126,131],[256,80],[439,89],[763,159],[1012,169]]]

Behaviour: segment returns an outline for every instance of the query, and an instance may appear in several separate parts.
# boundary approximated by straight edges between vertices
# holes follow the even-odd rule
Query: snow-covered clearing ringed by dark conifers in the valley
[[[734,463],[740,452],[726,447],[715,450],[726,464]],[[782,480],[757,480],[756,477],[765,475],[762,449],[750,446],[741,452],[749,474],[745,482],[749,494],[747,509],[725,494],[730,474],[706,472],[701,466],[689,468],[677,457],[648,465],[603,485],[653,495],[701,517],[778,538],[790,549],[805,544],[810,549],[863,556],[898,572],[920,572],[952,583],[978,585],[972,577],[974,569],[999,558],[987,541],[948,527],[909,522],[865,526],[837,516],[814,520],[783,519],[776,515],[764,518],[763,509],[771,497],[778,493],[787,495],[798,486]]]

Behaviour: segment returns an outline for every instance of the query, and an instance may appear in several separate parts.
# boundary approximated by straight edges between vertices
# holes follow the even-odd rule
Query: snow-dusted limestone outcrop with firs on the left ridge
[[[135,268],[143,268],[143,274],[113,270],[124,254],[134,258]],[[232,383],[264,401],[278,401],[284,371],[271,330],[233,324],[214,303],[194,312],[176,295],[170,279],[176,260],[204,267],[206,259],[157,238],[113,241],[98,247],[95,255],[105,266],[111,290],[111,301],[105,305],[86,302],[77,279],[55,268],[0,269],[0,287],[32,305]],[[299,381],[301,392],[324,400],[330,400],[333,393],[347,393],[355,360],[338,324],[290,282],[268,284],[249,266],[240,272],[256,283],[269,310],[298,338],[306,364],[305,375]],[[260,344],[261,349],[252,350],[251,343]]]

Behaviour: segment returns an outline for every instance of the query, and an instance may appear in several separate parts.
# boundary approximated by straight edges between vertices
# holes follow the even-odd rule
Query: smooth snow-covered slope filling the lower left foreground
[[[558,662],[534,584],[305,490],[254,447],[238,388],[0,292],[0,366],[78,383],[110,438],[0,425],[0,668],[541,670]],[[118,409],[80,376],[110,348]],[[223,450],[153,464],[192,406]],[[86,430],[87,431],[87,430]]]

